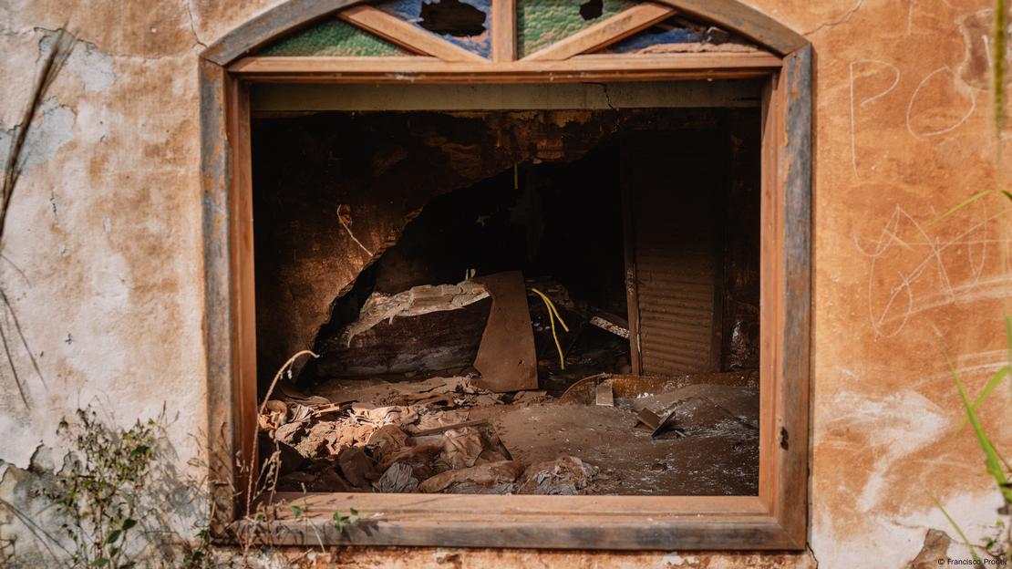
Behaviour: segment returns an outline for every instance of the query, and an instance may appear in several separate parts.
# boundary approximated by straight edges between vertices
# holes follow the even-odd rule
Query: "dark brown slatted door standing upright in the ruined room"
[[[726,138],[686,133],[622,148],[632,371],[720,371]]]

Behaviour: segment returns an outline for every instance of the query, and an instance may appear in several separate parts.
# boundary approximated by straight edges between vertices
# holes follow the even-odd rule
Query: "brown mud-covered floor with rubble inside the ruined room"
[[[616,389],[609,407],[468,378],[334,381],[271,401],[262,446],[277,445],[288,491],[754,495],[758,389],[735,383]],[[645,408],[673,411],[656,437]]]

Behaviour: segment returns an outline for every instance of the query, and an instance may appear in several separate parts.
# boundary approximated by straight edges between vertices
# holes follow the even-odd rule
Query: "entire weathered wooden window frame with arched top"
[[[251,84],[765,78],[757,496],[280,494],[278,499],[305,501],[311,513],[298,521],[274,522],[270,532],[274,543],[293,545],[316,545],[322,540],[328,545],[805,549],[810,458],[812,46],[733,0],[657,0],[657,4],[735,31],[768,52],[573,55],[579,47],[600,45],[601,37],[589,32],[574,36],[561,48],[542,50],[534,59],[515,61],[514,2],[493,1],[492,58],[483,62],[458,52],[452,52],[452,61],[427,56],[247,57],[272,39],[337,10],[358,5],[352,16],[360,18],[365,6],[355,0],[289,0],[201,54],[204,334],[215,533],[224,537],[229,535],[228,529],[249,530],[249,524],[255,523],[243,520],[244,501],[241,493],[237,499],[233,491],[246,486],[237,459],[238,464],[252,464],[256,435]],[[625,21],[642,24],[646,19]],[[621,33],[627,35],[628,29],[622,28]],[[381,515],[338,533],[332,522],[328,523],[329,514],[346,512],[349,506]]]

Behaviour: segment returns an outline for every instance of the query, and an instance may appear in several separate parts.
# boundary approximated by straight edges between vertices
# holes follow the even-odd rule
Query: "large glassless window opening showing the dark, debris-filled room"
[[[320,354],[261,417],[280,490],[757,494],[757,86],[651,88],[255,93],[259,377]]]

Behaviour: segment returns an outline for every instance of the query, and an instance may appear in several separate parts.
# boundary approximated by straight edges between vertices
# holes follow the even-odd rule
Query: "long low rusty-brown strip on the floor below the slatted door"
[[[720,374],[689,374],[674,377],[630,376],[623,374],[598,374],[584,378],[570,386],[559,398],[563,403],[589,405],[597,396],[597,385],[609,382],[615,399],[634,399],[645,393],[656,395],[685,386],[714,384],[738,387],[759,387],[759,372],[727,372]]]

